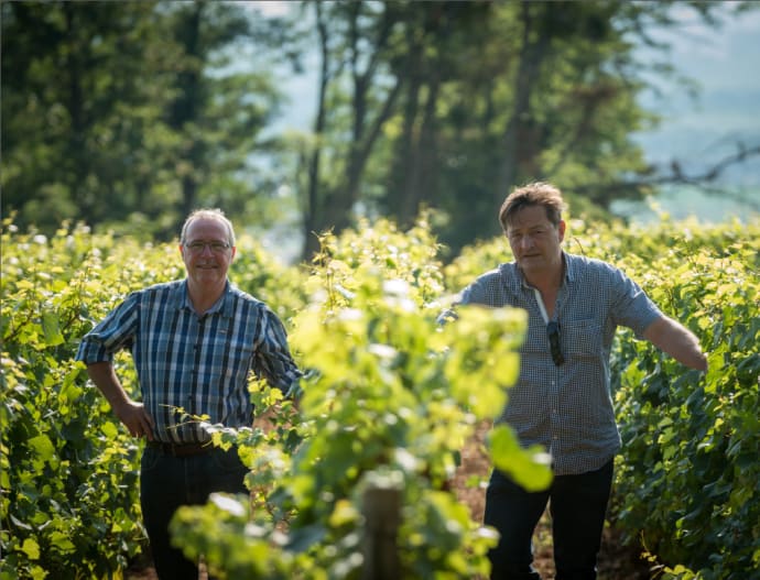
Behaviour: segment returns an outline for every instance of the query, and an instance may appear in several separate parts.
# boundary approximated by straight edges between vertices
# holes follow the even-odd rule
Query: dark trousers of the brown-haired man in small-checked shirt
[[[532,566],[532,537],[550,505],[556,580],[594,580],[612,485],[614,460],[597,471],[557,475],[549,490],[530,493],[493,470],[486,493],[485,524],[500,534],[488,557],[491,580],[541,580]]]

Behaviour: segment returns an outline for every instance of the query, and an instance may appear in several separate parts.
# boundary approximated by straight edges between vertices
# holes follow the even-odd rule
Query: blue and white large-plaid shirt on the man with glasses
[[[186,281],[134,292],[83,338],[76,359],[112,361],[121,349],[132,351],[154,438],[164,442],[209,439],[197,424],[182,422],[177,408],[250,427],[251,371],[285,393],[297,390],[301,376],[280,319],[229,283],[203,316],[191,306]]]

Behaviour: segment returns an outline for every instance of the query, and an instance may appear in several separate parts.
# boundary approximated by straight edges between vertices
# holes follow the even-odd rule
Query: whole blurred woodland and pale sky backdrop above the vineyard
[[[3,214],[166,241],[218,206],[292,259],[357,217],[408,227],[424,207],[453,256],[498,233],[506,193],[533,179],[593,217],[667,196],[746,216],[760,204],[751,41],[724,75],[747,92],[696,77],[739,37],[723,26],[751,28],[759,8],[4,2]],[[673,118],[686,124],[665,140]]]

